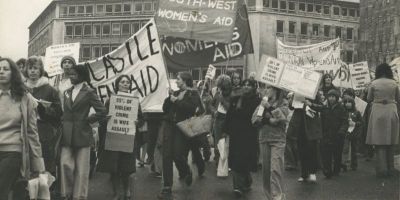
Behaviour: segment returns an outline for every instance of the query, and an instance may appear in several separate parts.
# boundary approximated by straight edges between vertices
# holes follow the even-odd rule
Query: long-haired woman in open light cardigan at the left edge
[[[17,65],[0,58],[0,199],[8,199],[18,178],[28,180],[45,171],[36,107]],[[14,198],[22,193],[14,192]]]

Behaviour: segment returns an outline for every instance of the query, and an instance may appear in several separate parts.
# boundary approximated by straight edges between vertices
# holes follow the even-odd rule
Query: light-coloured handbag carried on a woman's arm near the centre
[[[211,131],[211,115],[194,116],[176,124],[186,137],[193,138]]]

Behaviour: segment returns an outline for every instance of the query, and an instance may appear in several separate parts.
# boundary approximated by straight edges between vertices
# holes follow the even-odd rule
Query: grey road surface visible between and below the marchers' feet
[[[232,177],[216,177],[215,162],[207,163],[204,177],[197,177],[192,167],[193,184],[188,187],[180,182],[174,172],[173,193],[175,200],[263,200],[261,172],[253,173],[253,186],[246,196],[236,198],[232,191]],[[285,171],[284,184],[287,200],[400,200],[400,178],[378,179],[374,162],[359,159],[357,171],[341,173],[332,179],[325,179],[319,172],[317,183],[299,183],[299,171]],[[134,200],[156,200],[160,192],[161,178],[149,175],[149,168],[137,168],[134,175]],[[112,190],[108,174],[96,173],[90,181],[89,200],[111,200]]]

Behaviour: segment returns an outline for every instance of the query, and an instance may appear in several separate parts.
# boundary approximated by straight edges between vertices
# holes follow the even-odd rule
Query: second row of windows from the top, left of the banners
[[[109,37],[130,36],[136,33],[147,21],[66,23],[66,37]]]

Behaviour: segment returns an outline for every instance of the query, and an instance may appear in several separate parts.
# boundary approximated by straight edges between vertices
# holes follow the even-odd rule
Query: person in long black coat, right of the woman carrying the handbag
[[[245,80],[241,95],[232,97],[226,114],[225,130],[229,134],[229,167],[233,172],[233,189],[237,196],[250,190],[250,172],[257,170],[257,130],[251,123],[253,112],[261,100],[256,82]]]

